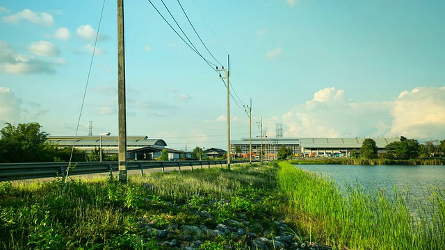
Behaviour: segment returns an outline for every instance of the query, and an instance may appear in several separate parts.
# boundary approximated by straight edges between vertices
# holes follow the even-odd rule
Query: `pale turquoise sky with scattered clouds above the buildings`
[[[226,149],[224,66],[231,140],[445,139],[445,1],[164,3],[124,3],[129,136]],[[0,2],[2,126],[118,135],[116,4]]]

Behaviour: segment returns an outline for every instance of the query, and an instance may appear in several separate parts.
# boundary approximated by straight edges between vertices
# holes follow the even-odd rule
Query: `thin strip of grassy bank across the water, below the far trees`
[[[351,159],[351,158],[305,158],[290,160],[294,165],[445,165],[443,159]]]

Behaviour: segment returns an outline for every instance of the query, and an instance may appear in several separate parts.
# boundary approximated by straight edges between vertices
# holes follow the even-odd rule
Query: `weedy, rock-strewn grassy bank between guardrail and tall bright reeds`
[[[276,172],[233,165],[129,176],[128,185],[115,178],[66,187],[63,179],[0,183],[0,249],[180,249],[198,236],[199,249],[255,249],[255,238],[283,233],[277,221],[288,203],[277,192]],[[235,220],[248,225],[241,235],[177,233],[184,225],[216,228]],[[166,230],[175,239],[156,238]]]

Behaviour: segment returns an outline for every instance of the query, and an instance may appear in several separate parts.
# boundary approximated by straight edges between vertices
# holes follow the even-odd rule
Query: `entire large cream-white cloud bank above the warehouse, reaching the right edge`
[[[394,101],[358,102],[343,90],[325,88],[282,115],[287,137],[443,138],[445,87],[415,88]]]

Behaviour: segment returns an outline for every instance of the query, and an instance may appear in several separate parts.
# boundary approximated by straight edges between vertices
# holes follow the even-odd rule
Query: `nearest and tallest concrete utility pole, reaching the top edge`
[[[127,183],[127,114],[125,100],[124,0],[118,0],[119,181]]]

